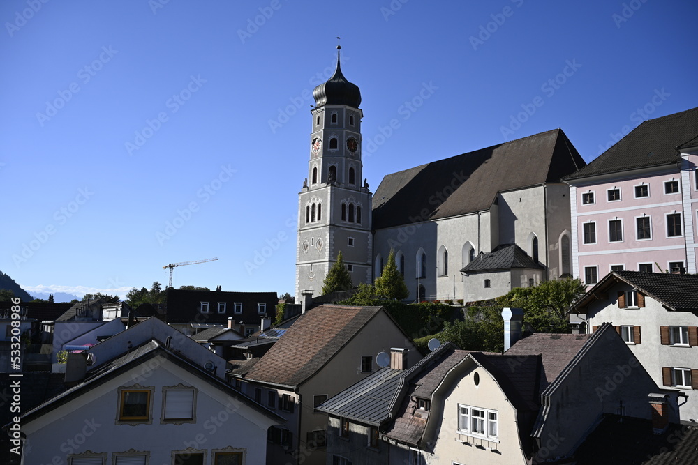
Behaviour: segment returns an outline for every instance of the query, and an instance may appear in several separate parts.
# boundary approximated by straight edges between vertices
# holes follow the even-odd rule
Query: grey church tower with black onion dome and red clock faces
[[[298,199],[298,299],[303,291],[321,294],[340,251],[355,285],[373,280],[371,192],[362,183],[361,93],[342,74],[340,48],[334,75],[313,90],[308,178]]]

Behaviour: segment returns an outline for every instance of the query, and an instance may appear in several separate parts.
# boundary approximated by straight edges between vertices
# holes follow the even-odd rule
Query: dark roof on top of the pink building
[[[698,108],[644,121],[565,181],[681,161],[676,147],[698,134]]]

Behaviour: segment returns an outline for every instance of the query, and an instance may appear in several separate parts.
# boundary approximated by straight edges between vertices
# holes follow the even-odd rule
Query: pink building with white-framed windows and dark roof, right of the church
[[[641,123],[570,184],[572,270],[696,273],[698,108]]]

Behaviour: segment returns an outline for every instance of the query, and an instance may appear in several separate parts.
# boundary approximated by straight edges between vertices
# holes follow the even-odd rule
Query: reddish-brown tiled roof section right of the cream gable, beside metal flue
[[[536,333],[518,340],[505,355],[540,354],[543,364],[540,389],[543,390],[563,372],[590,337],[588,334]]]

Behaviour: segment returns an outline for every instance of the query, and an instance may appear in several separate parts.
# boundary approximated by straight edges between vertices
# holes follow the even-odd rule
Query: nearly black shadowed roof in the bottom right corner
[[[608,415],[574,459],[579,465],[698,464],[698,426],[669,425],[653,434],[650,420]]]

